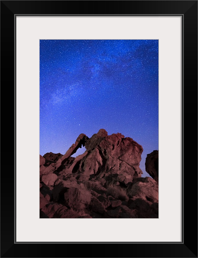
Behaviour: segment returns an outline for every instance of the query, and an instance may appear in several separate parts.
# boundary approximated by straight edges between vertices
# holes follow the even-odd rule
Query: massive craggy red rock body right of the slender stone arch
[[[129,183],[133,178],[141,177],[139,167],[143,148],[133,139],[120,133],[107,135],[100,129],[85,143],[88,154],[82,158],[78,173],[79,180],[96,179],[105,184],[116,178],[122,183]]]

